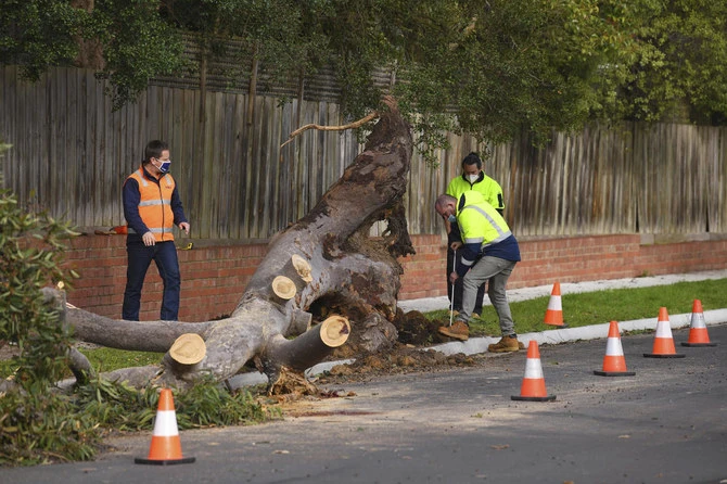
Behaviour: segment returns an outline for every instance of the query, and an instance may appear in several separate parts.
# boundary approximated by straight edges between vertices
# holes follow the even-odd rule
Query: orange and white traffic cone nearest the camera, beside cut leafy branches
[[[177,412],[171,397],[171,390],[162,389],[160,404],[154,421],[152,433],[152,445],[149,448],[149,457],[133,459],[136,463],[153,463],[157,466],[169,466],[173,463],[191,463],[194,457],[182,457],[181,443],[179,442],[179,430],[177,429]]]

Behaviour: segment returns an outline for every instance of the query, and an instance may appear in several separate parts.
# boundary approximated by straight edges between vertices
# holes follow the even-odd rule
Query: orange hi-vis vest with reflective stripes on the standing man
[[[166,174],[158,180],[158,184],[144,177],[142,168],[139,168],[129,178],[139,183],[139,216],[149,230],[154,234],[157,242],[175,240],[171,229],[175,225],[175,214],[171,211],[171,193],[175,191],[175,180],[171,175]],[[133,232],[129,228],[129,232]]]

